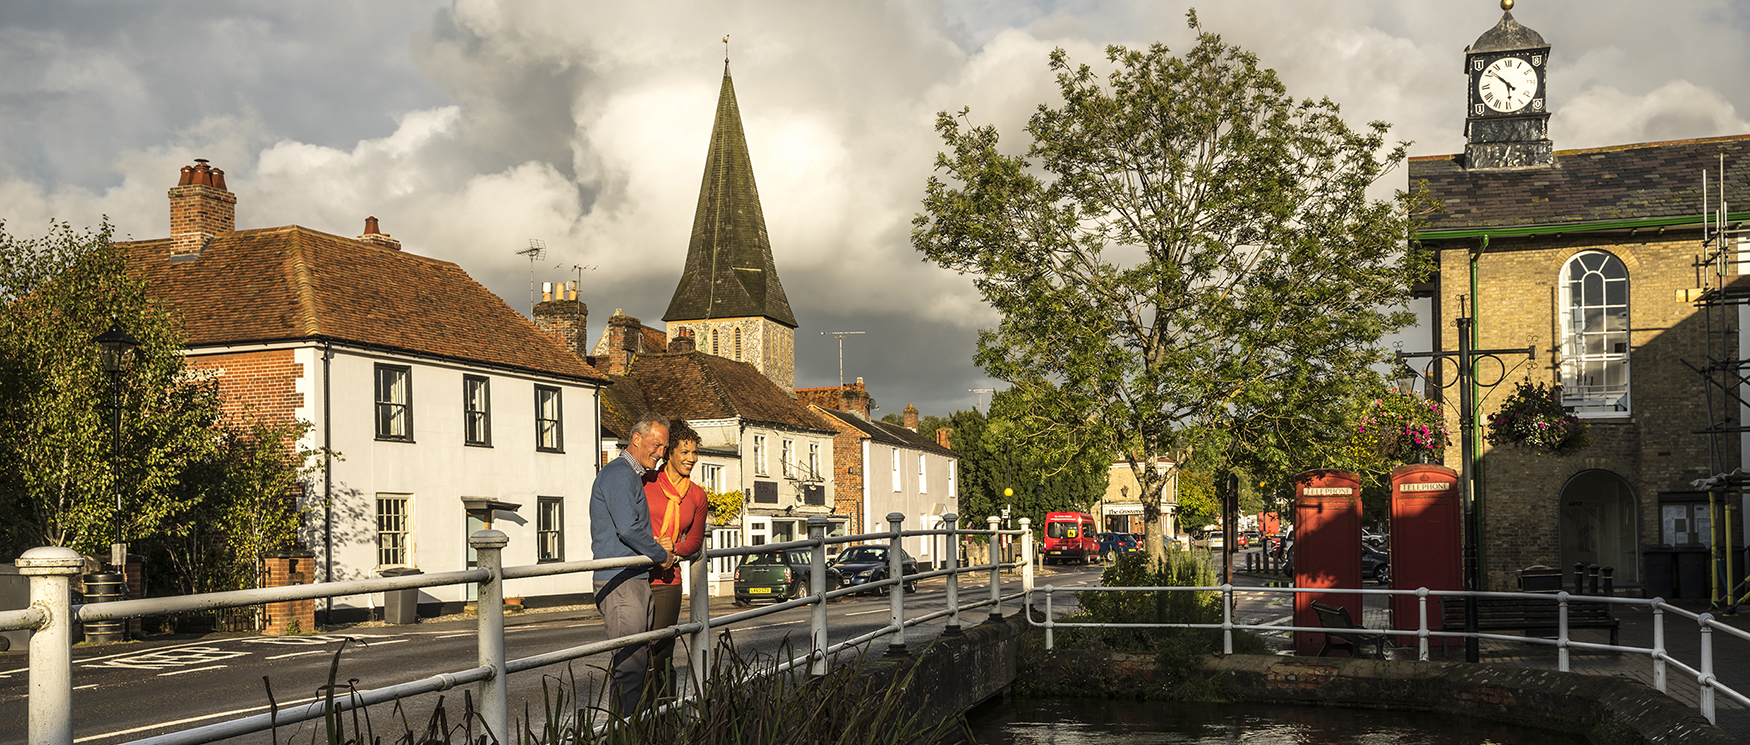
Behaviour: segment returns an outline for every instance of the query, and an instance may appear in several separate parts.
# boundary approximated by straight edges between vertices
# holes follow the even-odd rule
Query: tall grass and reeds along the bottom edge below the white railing
[[[606,670],[579,679],[565,675],[541,679],[541,708],[527,705],[514,719],[511,733],[486,733],[472,698],[464,693],[462,714],[450,719],[443,698],[430,717],[411,722],[401,707],[392,721],[373,722],[369,714],[338,712],[334,700],[355,694],[352,682],[340,682],[340,652],[324,687],[327,714],[310,733],[310,743],[327,745],[775,745],[775,743],[954,743],[971,742],[964,717],[940,722],[919,721],[905,691],[915,666],[898,675],[875,666],[858,654],[833,665],[822,677],[803,668],[779,672],[791,658],[788,644],[777,654],[747,654],[723,635],[709,679],[693,680],[702,696],[667,700],[646,707],[632,717],[616,717],[606,708]],[[884,675],[886,673],[886,675]],[[271,687],[270,687],[271,700]],[[275,708],[276,712],[276,708]],[[387,735],[378,735],[382,726]],[[348,729],[350,728],[350,729]],[[273,742],[282,743],[278,729]],[[296,731],[287,745],[303,742]]]

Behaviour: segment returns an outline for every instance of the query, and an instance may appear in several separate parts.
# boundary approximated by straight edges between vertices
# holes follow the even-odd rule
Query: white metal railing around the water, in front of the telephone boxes
[[[1696,684],[1701,687],[1696,708],[1701,712],[1708,722],[1717,722],[1715,703],[1717,696],[1738,701],[1743,707],[1750,707],[1750,698],[1746,698],[1738,689],[1726,686],[1713,675],[1713,631],[1724,631],[1727,635],[1743,638],[1750,642],[1750,631],[1743,631],[1713,619],[1713,614],[1696,614],[1684,610],[1676,605],[1666,603],[1664,598],[1614,598],[1600,595],[1570,595],[1563,593],[1472,593],[1461,589],[1353,589],[1353,588],[1239,588],[1246,593],[1284,593],[1284,595],[1414,595],[1416,596],[1416,628],[1414,630],[1386,630],[1386,628],[1367,628],[1367,633],[1379,633],[1386,637],[1416,637],[1416,659],[1428,661],[1428,640],[1430,638],[1470,638],[1479,640],[1500,640],[1500,642],[1522,642],[1535,645],[1556,647],[1556,668],[1561,672],[1572,672],[1570,652],[1573,649],[1600,651],[1600,652],[1628,652],[1628,654],[1645,654],[1652,665],[1654,689],[1659,693],[1668,693],[1668,668],[1675,666],[1684,673],[1694,675]],[[1055,593],[1157,593],[1157,591],[1181,591],[1181,593],[1222,593],[1222,623],[1066,623],[1057,621],[1052,614],[1052,596]],[[1234,623],[1234,591],[1232,584],[1208,586],[1208,588],[1057,588],[1052,584],[1034,588],[1026,593],[1024,603],[1032,603],[1034,593],[1045,595],[1045,616],[1043,619],[1034,619],[1027,614],[1027,623],[1045,630],[1045,649],[1054,647],[1054,630],[1057,628],[1208,628],[1222,630],[1222,652],[1234,654],[1234,630],[1244,631],[1311,631],[1325,633],[1334,631],[1325,626],[1284,626],[1284,624],[1242,624]],[[1556,603],[1556,638],[1542,637],[1510,637],[1500,633],[1465,633],[1465,631],[1446,631],[1444,624],[1440,630],[1428,626],[1428,598],[1512,598],[1512,600],[1530,600],[1530,602],[1549,602]],[[1596,644],[1596,642],[1577,642],[1570,637],[1568,628],[1568,605],[1572,602],[1582,603],[1614,603],[1614,605],[1638,605],[1652,612],[1652,647],[1634,647],[1620,644]],[[1696,621],[1698,631],[1701,635],[1701,652],[1696,666],[1673,658],[1664,644],[1664,612],[1689,617]],[[1444,617],[1444,614],[1442,614]]]

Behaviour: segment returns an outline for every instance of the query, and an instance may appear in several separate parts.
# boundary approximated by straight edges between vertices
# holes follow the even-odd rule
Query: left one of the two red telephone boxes
[[[1316,469],[1295,476],[1295,588],[1362,588],[1362,479]],[[1349,609],[1362,623],[1362,596],[1295,593],[1295,626],[1318,628],[1312,602]],[[1295,631],[1295,649],[1318,649],[1325,635]]]

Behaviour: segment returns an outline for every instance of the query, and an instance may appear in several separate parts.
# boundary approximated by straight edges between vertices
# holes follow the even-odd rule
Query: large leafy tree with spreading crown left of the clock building
[[[1405,245],[1424,198],[1367,196],[1405,157],[1388,124],[1351,129],[1190,26],[1183,56],[1108,47],[1104,77],[1054,51],[1062,103],[1040,105],[1024,154],[940,114],[912,233],[999,311],[976,362],[1029,400],[1024,428],[1064,460],[1120,453],[1143,495],[1160,455],[1258,481],[1326,462],[1426,271]]]

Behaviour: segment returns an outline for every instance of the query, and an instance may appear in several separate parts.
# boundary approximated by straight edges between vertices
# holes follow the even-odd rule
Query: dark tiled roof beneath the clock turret
[[[1550,168],[1468,171],[1461,156],[1423,156],[1409,178],[1444,208],[1432,233],[1652,220],[1701,215],[1701,171],[1717,203],[1722,154],[1727,198],[1750,203],[1750,135],[1558,150]]]

